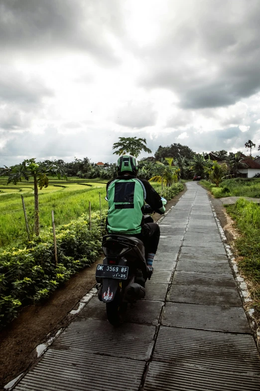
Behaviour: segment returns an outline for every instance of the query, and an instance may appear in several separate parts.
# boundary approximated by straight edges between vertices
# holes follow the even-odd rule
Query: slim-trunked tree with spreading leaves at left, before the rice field
[[[60,162],[59,162],[60,163]],[[66,178],[66,171],[64,164],[59,164],[58,161],[45,160],[43,162],[35,162],[35,158],[26,159],[20,164],[16,164],[11,167],[4,167],[0,169],[0,176],[8,176],[7,184],[21,182],[22,179],[29,181],[30,177],[33,178],[34,185],[34,231],[39,236],[39,194],[38,186],[40,190],[43,187],[48,187],[50,175],[57,175],[58,178]]]

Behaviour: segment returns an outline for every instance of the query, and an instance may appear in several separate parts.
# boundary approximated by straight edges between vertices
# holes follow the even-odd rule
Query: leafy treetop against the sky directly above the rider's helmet
[[[123,153],[130,153],[134,157],[138,157],[140,152],[151,153],[152,151],[146,147],[145,138],[136,137],[119,137],[119,141],[113,144],[113,149],[116,149],[113,154],[123,155]]]

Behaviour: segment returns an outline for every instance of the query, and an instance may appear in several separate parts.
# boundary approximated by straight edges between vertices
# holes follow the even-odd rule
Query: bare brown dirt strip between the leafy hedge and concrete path
[[[176,205],[186,191],[184,184],[184,190],[168,202],[166,211]],[[156,222],[161,215],[155,213],[152,217]],[[95,286],[95,266],[102,259],[100,257],[90,268],[72,276],[46,302],[23,308],[18,318],[1,331],[0,390],[37,360],[35,348],[39,344],[45,343],[71,322],[73,317],[69,312]]]

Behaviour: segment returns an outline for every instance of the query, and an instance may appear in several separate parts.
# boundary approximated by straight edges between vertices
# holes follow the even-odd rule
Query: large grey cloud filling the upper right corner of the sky
[[[260,2],[190,5],[193,16],[177,25],[173,19],[156,45],[144,50],[148,73],[140,83],[171,89],[182,108],[192,109],[234,104],[258,92]]]

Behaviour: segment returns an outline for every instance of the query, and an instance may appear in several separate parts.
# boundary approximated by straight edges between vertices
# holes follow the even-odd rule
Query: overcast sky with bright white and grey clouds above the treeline
[[[258,147],[259,26],[259,0],[0,0],[0,166]]]

